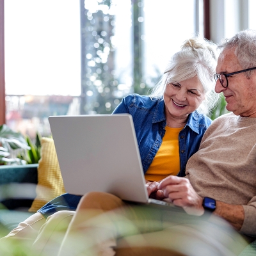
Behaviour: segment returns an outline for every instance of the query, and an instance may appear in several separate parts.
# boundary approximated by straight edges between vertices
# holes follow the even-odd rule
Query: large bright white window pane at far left
[[[8,95],[81,94],[79,1],[4,1]]]

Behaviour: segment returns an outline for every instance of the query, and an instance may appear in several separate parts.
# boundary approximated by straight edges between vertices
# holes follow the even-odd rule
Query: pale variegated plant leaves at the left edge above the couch
[[[0,126],[0,163],[3,164],[25,164],[22,159],[12,158],[13,150],[30,150],[28,142],[20,132],[15,132],[6,124]]]

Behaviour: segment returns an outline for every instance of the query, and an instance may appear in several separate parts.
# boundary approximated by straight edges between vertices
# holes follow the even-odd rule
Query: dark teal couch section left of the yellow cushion
[[[17,227],[36,198],[38,164],[0,166],[0,236]]]

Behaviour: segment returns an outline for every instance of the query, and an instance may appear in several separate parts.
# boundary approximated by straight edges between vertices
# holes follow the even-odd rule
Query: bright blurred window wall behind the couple
[[[255,0],[0,4],[0,122],[32,140],[51,135],[49,115],[110,114],[125,95],[147,95],[193,35],[218,44],[256,29]],[[211,118],[223,113],[222,100]]]

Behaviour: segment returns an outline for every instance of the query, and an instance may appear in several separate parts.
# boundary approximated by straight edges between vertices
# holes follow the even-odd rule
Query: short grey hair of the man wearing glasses
[[[234,49],[234,54],[243,69],[256,67],[256,30],[240,31],[232,38],[225,39],[218,49]],[[252,72],[246,72],[246,77],[250,77]]]

